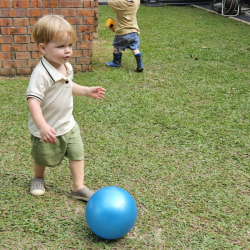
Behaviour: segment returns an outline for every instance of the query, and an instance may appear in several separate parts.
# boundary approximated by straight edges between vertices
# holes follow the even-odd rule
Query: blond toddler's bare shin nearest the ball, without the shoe
[[[72,174],[72,190],[78,191],[84,186],[84,161],[69,161],[69,167]]]

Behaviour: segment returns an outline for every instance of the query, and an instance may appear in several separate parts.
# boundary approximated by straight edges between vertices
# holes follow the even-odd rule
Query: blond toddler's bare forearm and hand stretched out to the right
[[[73,83],[73,95],[90,96],[96,99],[102,99],[105,95],[105,89],[102,87],[86,87]]]

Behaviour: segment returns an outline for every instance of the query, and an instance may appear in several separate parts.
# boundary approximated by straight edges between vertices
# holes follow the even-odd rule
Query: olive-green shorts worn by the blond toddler
[[[55,143],[44,142],[33,135],[30,137],[31,155],[37,165],[55,167],[60,165],[64,156],[73,161],[84,159],[84,149],[78,124],[66,134],[58,136]]]

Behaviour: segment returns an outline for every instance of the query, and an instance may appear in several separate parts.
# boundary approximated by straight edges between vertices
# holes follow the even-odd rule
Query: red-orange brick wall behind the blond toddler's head
[[[0,75],[29,75],[41,58],[32,28],[49,14],[63,15],[77,34],[70,63],[92,70],[93,38],[98,37],[98,0],[0,0]]]

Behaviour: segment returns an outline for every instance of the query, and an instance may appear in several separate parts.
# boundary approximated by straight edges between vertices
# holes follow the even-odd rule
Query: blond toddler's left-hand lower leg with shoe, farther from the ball
[[[45,166],[37,165],[36,163],[34,163],[35,177],[31,182],[31,187],[30,187],[31,194],[43,195],[45,193],[44,172],[45,172]]]

